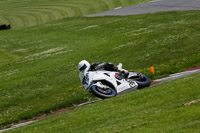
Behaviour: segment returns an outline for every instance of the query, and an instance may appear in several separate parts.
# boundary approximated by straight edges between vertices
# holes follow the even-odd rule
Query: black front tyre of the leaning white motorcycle
[[[97,87],[97,86],[92,86],[90,88],[90,91],[91,91],[92,94],[94,94],[95,96],[97,96],[97,97],[99,97],[101,99],[111,98],[111,97],[115,97],[117,95],[116,90],[113,89],[113,88],[109,88],[109,89],[111,89],[111,91],[112,91],[113,94],[112,95],[106,95],[106,94],[98,91],[95,87]]]

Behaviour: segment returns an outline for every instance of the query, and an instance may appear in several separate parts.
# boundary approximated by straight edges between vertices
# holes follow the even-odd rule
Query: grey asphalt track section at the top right
[[[126,8],[116,7],[115,10],[105,11],[98,14],[88,15],[88,17],[97,16],[126,16],[145,13],[154,13],[161,11],[183,11],[200,10],[200,0],[155,0],[140,5]]]

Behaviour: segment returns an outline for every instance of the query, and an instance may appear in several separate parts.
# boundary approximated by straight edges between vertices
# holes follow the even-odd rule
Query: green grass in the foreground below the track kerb
[[[196,133],[200,74],[76,108],[11,133]]]

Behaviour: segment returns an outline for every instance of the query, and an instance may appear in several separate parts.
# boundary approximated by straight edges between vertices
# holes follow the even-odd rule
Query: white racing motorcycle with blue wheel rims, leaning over
[[[86,90],[105,99],[150,86],[150,80],[142,73],[131,71],[128,77],[122,73],[105,70],[85,73]]]

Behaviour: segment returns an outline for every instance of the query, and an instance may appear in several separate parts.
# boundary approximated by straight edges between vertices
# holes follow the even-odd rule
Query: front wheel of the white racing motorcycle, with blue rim
[[[115,89],[113,88],[100,88],[96,85],[93,85],[91,88],[90,88],[91,92],[99,97],[99,98],[102,98],[102,99],[105,99],[105,98],[111,98],[111,97],[114,97],[117,95],[117,92]]]

